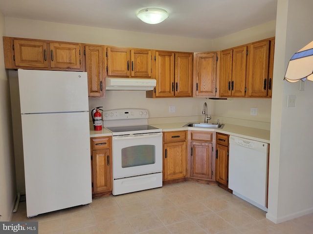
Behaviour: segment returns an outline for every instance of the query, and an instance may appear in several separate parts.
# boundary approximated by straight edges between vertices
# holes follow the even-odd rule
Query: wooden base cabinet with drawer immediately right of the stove
[[[184,181],[187,131],[164,132],[163,142],[163,184]]]

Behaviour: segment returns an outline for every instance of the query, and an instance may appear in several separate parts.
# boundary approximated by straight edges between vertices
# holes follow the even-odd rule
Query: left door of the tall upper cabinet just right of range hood
[[[172,52],[156,51],[156,97],[174,97],[174,59]]]

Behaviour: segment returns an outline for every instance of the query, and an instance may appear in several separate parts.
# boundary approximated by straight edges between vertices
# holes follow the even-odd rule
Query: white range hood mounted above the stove
[[[156,79],[106,78],[106,90],[153,90]]]

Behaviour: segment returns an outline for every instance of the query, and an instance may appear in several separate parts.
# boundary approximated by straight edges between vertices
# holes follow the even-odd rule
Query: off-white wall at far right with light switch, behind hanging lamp
[[[283,80],[291,56],[313,40],[313,1],[277,6],[267,218],[279,223],[313,213],[313,82],[300,91]],[[287,107],[288,95],[296,96],[295,107]]]

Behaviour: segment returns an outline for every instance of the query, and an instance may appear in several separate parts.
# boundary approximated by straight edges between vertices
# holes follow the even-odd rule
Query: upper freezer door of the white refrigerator
[[[21,113],[88,111],[86,72],[18,70]]]

